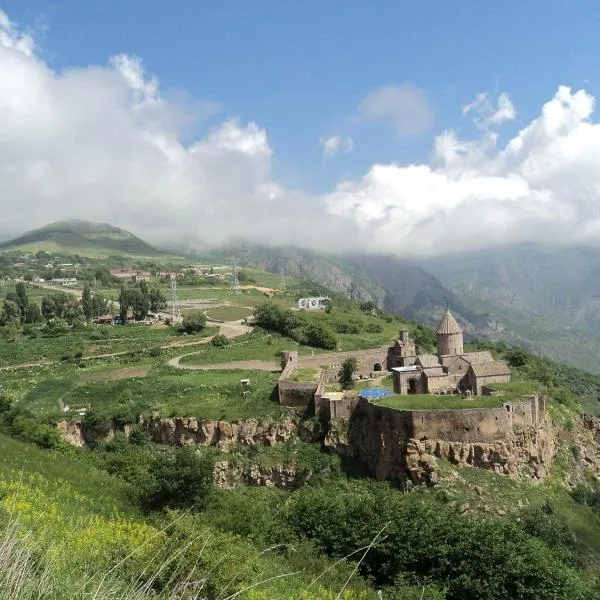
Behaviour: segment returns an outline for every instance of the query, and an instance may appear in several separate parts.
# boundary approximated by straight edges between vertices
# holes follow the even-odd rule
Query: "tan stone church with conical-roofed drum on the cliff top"
[[[463,331],[449,310],[440,321],[436,337],[437,355],[422,354],[408,331],[400,331],[387,354],[395,393],[482,395],[487,384],[510,381],[508,365],[494,360],[489,351],[464,352]]]

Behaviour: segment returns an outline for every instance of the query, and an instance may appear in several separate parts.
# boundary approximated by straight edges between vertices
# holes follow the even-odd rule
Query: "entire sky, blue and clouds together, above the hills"
[[[600,5],[0,0],[0,236],[598,244]]]

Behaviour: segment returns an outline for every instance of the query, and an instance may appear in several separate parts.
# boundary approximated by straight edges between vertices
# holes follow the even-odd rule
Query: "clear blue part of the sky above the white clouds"
[[[292,186],[320,191],[376,162],[427,161],[447,128],[470,134],[461,106],[481,91],[505,91],[517,118],[539,114],[559,84],[597,89],[600,5],[219,0],[4,0],[21,26],[43,24],[44,60],[61,70],[137,55],[165,90],[219,103],[213,119],[239,116],[264,127],[274,169]],[[426,94],[433,125],[395,135],[362,122],[357,106],[386,84]],[[209,123],[205,124],[210,125]],[[351,136],[354,150],[323,163],[319,139]]]

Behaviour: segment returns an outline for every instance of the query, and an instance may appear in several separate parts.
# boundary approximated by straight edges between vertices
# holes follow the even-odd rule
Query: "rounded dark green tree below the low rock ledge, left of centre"
[[[213,492],[212,471],[213,461],[190,446],[158,454],[141,485],[141,504],[150,510],[203,508]]]

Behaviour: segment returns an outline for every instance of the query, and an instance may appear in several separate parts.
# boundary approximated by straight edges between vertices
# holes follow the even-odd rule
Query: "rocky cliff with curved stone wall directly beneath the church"
[[[543,478],[556,453],[549,417],[538,411],[534,399],[505,408],[394,411],[359,402],[348,422],[331,422],[325,446],[360,458],[377,479],[433,485],[439,477],[437,459],[501,475]],[[454,422],[445,412],[452,413]]]

